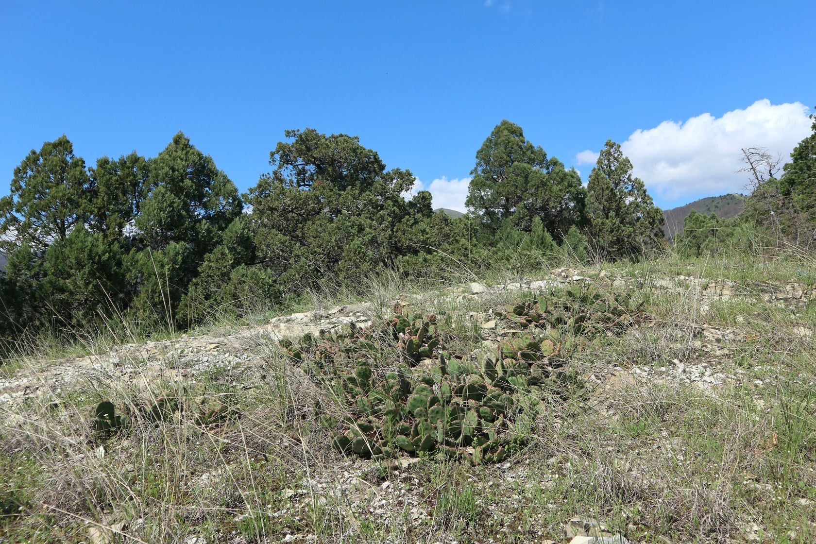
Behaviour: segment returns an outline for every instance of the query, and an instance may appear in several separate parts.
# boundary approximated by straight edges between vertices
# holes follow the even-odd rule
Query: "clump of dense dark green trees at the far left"
[[[69,139],[46,142],[15,169],[11,195],[0,200],[0,251],[9,256],[0,336],[81,330],[128,313],[144,329],[172,327],[199,265],[222,244],[224,281],[211,266],[193,291],[220,281],[205,303],[221,306],[237,292],[246,299],[247,282],[256,281],[275,298],[268,274],[246,270],[255,233],[241,211],[235,185],[182,133],[153,159],[101,157],[90,175]]]

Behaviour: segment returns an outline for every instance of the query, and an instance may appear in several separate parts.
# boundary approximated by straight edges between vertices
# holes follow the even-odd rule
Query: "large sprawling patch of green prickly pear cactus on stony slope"
[[[533,306],[522,304],[517,313],[529,316]],[[375,458],[404,451],[503,460],[524,443],[541,399],[563,394],[565,380],[573,379],[561,369],[561,343],[542,334],[511,337],[497,352],[469,360],[433,338],[435,316],[420,317],[400,312],[381,327],[281,346],[331,391],[336,409],[318,404],[316,415],[335,449]],[[371,362],[384,338],[402,354],[396,364]]]

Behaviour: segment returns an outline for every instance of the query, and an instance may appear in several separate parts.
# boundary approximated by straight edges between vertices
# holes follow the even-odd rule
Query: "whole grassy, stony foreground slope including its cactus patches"
[[[677,264],[7,361],[0,542],[814,542],[816,289]]]

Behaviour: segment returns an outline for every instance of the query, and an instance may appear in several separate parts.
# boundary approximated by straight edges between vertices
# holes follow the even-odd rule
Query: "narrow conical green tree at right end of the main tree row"
[[[663,214],[652,203],[620,144],[607,140],[587,186],[587,232],[601,256],[641,253],[663,239]]]

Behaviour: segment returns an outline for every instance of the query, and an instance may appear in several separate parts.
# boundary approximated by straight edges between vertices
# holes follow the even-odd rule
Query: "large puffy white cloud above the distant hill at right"
[[[757,100],[722,117],[703,113],[686,122],[664,121],[636,130],[621,149],[632,160],[635,175],[664,200],[740,192],[747,184],[746,175],[736,173],[743,166],[740,149],[768,148],[789,161],[796,144],[810,134],[808,114],[800,102]],[[588,158],[588,152],[576,156],[581,164],[579,157]]]

